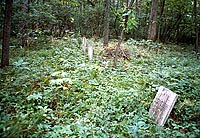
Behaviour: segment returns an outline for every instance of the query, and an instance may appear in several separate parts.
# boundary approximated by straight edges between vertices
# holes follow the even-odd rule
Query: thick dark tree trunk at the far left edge
[[[9,65],[9,40],[10,40],[10,28],[11,28],[11,12],[12,12],[13,0],[6,0],[4,26],[3,26],[3,41],[2,41],[2,58],[1,67]]]

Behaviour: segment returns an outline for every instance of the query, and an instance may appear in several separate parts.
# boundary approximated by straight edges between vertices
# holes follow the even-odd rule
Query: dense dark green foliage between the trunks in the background
[[[18,44],[21,39],[28,41],[27,45],[32,45],[38,41],[50,41],[50,36],[63,37],[71,33],[87,37],[103,35],[105,2],[102,0],[28,1],[29,3],[17,0],[13,4],[12,36],[15,38],[17,36]],[[125,3],[125,0],[111,1],[110,38],[117,38],[120,35],[122,17],[127,14]],[[3,25],[4,7],[2,3],[0,30]],[[163,7],[159,2],[157,16],[157,26],[160,27],[157,32],[159,39],[163,42],[194,43],[193,7],[194,2],[191,0],[167,0]],[[200,22],[199,9],[197,4],[197,22]],[[130,10],[133,20],[129,21],[131,30],[126,37],[146,39],[151,0],[136,0]],[[136,23],[136,27],[131,25]],[[2,35],[2,30],[0,32]]]

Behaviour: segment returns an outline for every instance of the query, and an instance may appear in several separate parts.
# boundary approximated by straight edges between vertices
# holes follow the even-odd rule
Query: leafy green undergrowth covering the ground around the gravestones
[[[116,43],[113,43],[116,44]],[[79,39],[11,48],[0,69],[1,137],[199,137],[200,66],[175,45],[128,40],[130,60],[94,59]],[[148,114],[159,86],[179,95],[164,127]]]

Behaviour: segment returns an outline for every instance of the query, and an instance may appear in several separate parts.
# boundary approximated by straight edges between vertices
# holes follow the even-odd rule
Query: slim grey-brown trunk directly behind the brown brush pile
[[[104,19],[103,46],[108,46],[109,42],[109,21],[110,20],[110,0],[106,0],[106,10]]]

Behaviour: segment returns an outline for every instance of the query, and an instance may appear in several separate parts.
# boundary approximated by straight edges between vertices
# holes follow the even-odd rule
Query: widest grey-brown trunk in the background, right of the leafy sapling
[[[156,18],[158,11],[158,0],[152,0],[148,40],[156,41]]]

